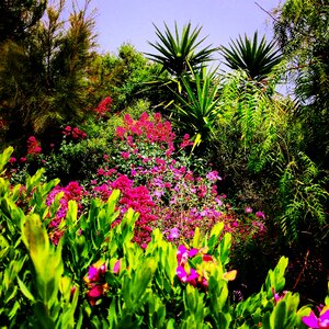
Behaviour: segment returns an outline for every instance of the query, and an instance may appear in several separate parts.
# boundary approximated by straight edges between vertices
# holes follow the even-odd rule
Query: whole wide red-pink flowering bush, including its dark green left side
[[[102,127],[106,124],[112,126],[109,120],[106,123],[100,121],[98,109],[95,115]],[[218,222],[225,223],[224,231],[241,231],[246,238],[265,230],[264,217],[254,216],[249,220],[245,216],[248,220],[241,220],[241,216],[235,215],[225,195],[217,191],[222,181],[219,173],[192,157],[190,149],[193,143],[189,135],[178,138],[170,122],[159,113],[149,116],[144,112],[137,120],[129,114],[121,121],[116,117],[114,122],[118,124],[111,140],[100,138],[97,143],[95,138],[88,137],[83,127],[66,126],[57,151],[42,154],[38,149],[34,152],[33,161],[45,168],[46,175],[53,177],[54,170],[57,173],[61,170],[59,177],[63,182],[67,182],[68,174],[76,179],[57,186],[47,198],[50,205],[59,192],[64,193],[61,207],[49,224],[54,241],[58,241],[63,234],[60,220],[65,217],[69,200],[77,201],[79,211],[83,212],[93,197],[106,202],[115,189],[121,191],[121,214],[116,223],[128,208],[139,213],[134,240],[144,248],[155,228],[160,228],[166,238],[177,245],[191,240],[196,227],[205,235]],[[34,137],[33,141],[37,143]],[[93,147],[93,151],[89,146]],[[24,168],[29,166],[26,161]],[[71,173],[73,167],[77,170]],[[78,168],[88,167],[88,174],[84,170],[79,180]],[[12,182],[21,179],[22,172],[26,173],[26,170],[18,170],[14,161],[10,170]]]

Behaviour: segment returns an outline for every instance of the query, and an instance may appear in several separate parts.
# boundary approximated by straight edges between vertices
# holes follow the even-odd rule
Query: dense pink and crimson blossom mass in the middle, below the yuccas
[[[193,238],[196,227],[207,231],[219,220],[226,223],[226,231],[236,229],[238,222],[226,216],[224,197],[217,193],[217,182],[222,180],[218,172],[203,170],[202,175],[195,175],[189,169],[184,150],[174,159],[174,134],[160,114],[150,118],[144,113],[138,121],[126,115],[124,121],[124,126],[116,129],[116,166],[109,168],[109,158],[104,158],[106,166],[98,170],[99,183],[93,181],[93,189],[98,196],[106,200],[117,178],[123,180],[124,174],[125,181],[131,180],[120,189],[124,194],[122,202],[141,212],[137,227],[143,228],[144,242],[149,239],[155,218],[157,227],[174,242]],[[189,138],[184,136],[181,148],[191,145]],[[137,198],[132,193],[135,189],[139,200],[146,197],[141,208],[137,207]]]

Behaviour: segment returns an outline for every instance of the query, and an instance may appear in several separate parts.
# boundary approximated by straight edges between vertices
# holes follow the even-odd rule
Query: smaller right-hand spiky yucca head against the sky
[[[240,35],[236,41],[231,41],[229,47],[222,46],[220,53],[229,68],[241,69],[247,72],[249,79],[256,81],[265,79],[282,60],[274,42],[268,43],[265,36],[258,42],[258,32],[253,34],[252,39],[247,35],[242,38]]]

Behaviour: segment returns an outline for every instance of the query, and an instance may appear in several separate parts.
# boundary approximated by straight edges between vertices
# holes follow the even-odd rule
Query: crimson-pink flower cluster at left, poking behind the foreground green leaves
[[[60,237],[64,234],[63,230],[63,220],[66,217],[67,211],[68,211],[68,202],[70,200],[75,200],[78,203],[78,209],[81,211],[82,204],[81,198],[86,194],[86,191],[82,186],[79,185],[78,182],[70,182],[67,186],[60,188],[56,186],[47,196],[46,204],[48,206],[52,206],[55,202],[55,198],[58,193],[63,193],[63,196],[59,200],[59,206],[56,209],[56,214],[52,222],[49,223],[49,230],[50,230],[50,239],[54,242],[54,245],[57,245]]]

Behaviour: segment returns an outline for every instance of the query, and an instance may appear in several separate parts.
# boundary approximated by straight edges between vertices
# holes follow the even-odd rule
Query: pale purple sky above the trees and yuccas
[[[82,0],[78,1],[82,3]],[[271,10],[283,0],[257,0]],[[192,26],[203,26],[204,45],[228,45],[239,34],[252,35],[256,30],[272,35],[271,19],[254,0],[92,0],[97,8],[99,50],[115,53],[123,43],[132,43],[137,50],[154,53],[148,41],[155,42],[152,23],[163,31],[163,22],[172,29],[191,21]]]

